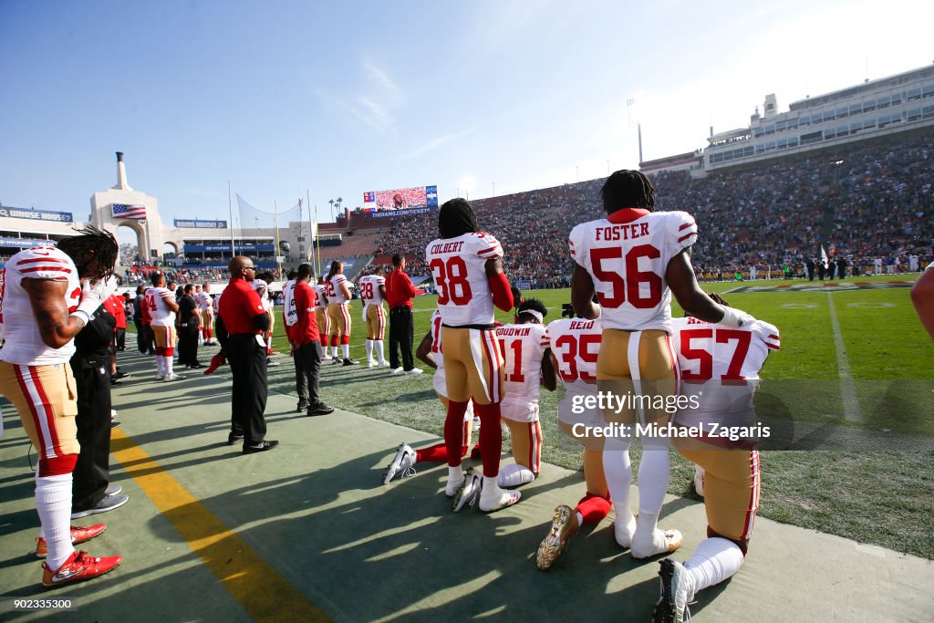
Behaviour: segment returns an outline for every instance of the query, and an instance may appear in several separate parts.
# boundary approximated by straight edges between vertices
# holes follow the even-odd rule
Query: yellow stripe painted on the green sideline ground
[[[330,621],[298,588],[215,517],[120,429],[110,451],[249,616],[262,621]]]

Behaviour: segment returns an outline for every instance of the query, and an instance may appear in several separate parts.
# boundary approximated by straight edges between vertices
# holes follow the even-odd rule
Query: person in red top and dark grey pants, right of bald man
[[[304,263],[298,267],[295,276],[295,290],[292,293],[295,312],[298,321],[292,326],[286,322],[286,333],[292,347],[292,357],[295,358],[295,389],[298,391],[300,405],[307,405],[309,416],[326,416],[333,413],[333,408],[321,402],[318,395],[320,387],[318,376],[321,372],[320,336],[318,335],[318,321],[315,319],[315,290],[311,287],[311,264]],[[286,302],[288,312],[289,302]]]

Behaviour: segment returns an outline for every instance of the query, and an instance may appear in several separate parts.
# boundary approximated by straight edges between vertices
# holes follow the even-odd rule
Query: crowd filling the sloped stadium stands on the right
[[[698,220],[701,236],[692,260],[701,279],[803,276],[805,262],[819,258],[822,246],[845,257],[851,274],[909,272],[934,259],[932,150],[934,132],[928,131],[698,179],[685,171],[651,178],[657,210],[682,209]],[[510,279],[530,280],[534,287],[566,285],[573,269],[568,234],[602,216],[603,181],[471,202],[481,226],[502,242]],[[395,219],[377,253],[403,252],[409,274],[428,275],[424,248],[435,237],[434,219]]]

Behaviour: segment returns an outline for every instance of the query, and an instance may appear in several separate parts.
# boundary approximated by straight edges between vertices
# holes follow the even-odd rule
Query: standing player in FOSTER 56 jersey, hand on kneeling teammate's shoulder
[[[698,235],[694,218],[680,211],[653,212],[655,188],[647,177],[638,171],[616,171],[601,195],[606,218],[577,225],[570,235],[574,311],[584,319],[602,319],[600,391],[617,400],[649,396],[654,406],[659,396],[671,397],[677,389],[670,340],[672,293],[699,319],[742,327],[753,318],[716,304],[700,289],[690,262],[690,247]],[[592,300],[595,292],[599,306]],[[604,409],[604,418],[631,427],[636,418],[646,425],[664,425],[669,415],[664,408],[637,406]],[[606,450],[627,450],[630,441],[630,435],[618,435],[607,440]],[[605,470],[616,509],[616,540],[630,545],[637,559],[672,552],[682,539],[678,531],[658,530],[670,477],[667,439],[644,436],[642,441],[638,521],[630,510],[630,466],[607,465]],[[619,455],[604,451],[603,456],[605,462]]]

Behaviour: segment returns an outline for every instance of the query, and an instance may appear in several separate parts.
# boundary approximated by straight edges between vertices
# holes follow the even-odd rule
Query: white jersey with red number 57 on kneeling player
[[[672,326],[672,347],[684,381],[681,393],[692,404],[675,421],[697,426],[703,414],[751,409],[759,371],[771,350],[781,348],[778,329],[762,320],[730,327],[695,318],[673,319]],[[737,382],[742,380],[753,382]]]

